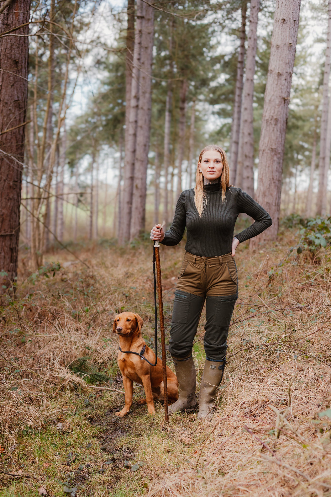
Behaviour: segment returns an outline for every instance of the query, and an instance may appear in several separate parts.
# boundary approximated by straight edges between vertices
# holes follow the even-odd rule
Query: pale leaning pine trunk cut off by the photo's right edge
[[[325,185],[326,177],[326,143],[328,129],[328,104],[329,104],[329,79],[331,68],[331,0],[329,0],[329,20],[327,33],[327,49],[325,52],[324,78],[323,78],[323,96],[322,96],[322,117],[321,117],[321,138],[320,138],[320,157],[319,157],[319,191],[317,195],[317,214],[326,215],[327,199]]]

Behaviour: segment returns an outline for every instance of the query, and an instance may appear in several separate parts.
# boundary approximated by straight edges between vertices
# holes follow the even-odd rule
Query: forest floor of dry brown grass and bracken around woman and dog
[[[56,251],[33,274],[21,254],[15,299],[1,305],[0,496],[331,496],[331,251],[313,263],[289,251],[297,241],[287,230],[238,248],[227,366],[205,422],[165,423],[159,403],[154,416],[135,404],[115,415],[116,313],[138,313],[154,347],[150,241],[71,248],[89,267]],[[160,252],[168,339],[184,244]]]

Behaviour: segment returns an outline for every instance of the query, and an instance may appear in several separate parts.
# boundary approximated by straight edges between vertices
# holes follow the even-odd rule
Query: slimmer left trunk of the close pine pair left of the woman
[[[134,49],[132,61],[131,98],[127,101],[126,121],[128,115],[128,126],[125,133],[125,158],[124,158],[124,185],[123,185],[123,219],[121,222],[120,244],[130,239],[130,227],[132,217],[132,196],[135,147],[137,135],[137,118],[139,104],[139,78],[140,78],[140,55],[141,38],[144,14],[144,2],[137,0],[136,23],[134,30]],[[128,17],[129,23],[129,17]],[[129,24],[128,24],[129,25]]]

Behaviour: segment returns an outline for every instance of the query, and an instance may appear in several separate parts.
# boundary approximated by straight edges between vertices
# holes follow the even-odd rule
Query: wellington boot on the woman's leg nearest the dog
[[[168,407],[169,414],[191,410],[197,405],[197,372],[192,355],[187,359],[176,359],[173,357],[173,361],[179,383],[179,399]]]

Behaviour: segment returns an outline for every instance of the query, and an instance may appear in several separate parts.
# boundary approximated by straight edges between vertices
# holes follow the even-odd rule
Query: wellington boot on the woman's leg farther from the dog
[[[205,360],[199,393],[199,413],[197,419],[209,419],[213,415],[217,387],[223,378],[225,359],[215,362]]]

